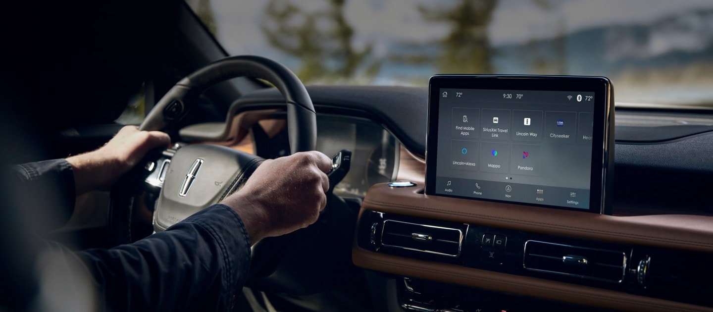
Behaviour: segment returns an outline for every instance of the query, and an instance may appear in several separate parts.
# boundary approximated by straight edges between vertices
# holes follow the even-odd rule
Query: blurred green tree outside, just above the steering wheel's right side
[[[379,61],[366,66],[371,44],[354,48],[354,28],[344,18],[346,0],[325,0],[327,9],[307,11],[290,0],[270,0],[261,28],[271,46],[298,58],[304,82],[350,79],[364,66],[364,76],[379,72]]]

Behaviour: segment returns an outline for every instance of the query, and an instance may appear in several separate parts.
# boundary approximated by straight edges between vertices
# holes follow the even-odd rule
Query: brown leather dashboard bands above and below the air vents
[[[676,214],[614,217],[428,196],[422,194],[421,186],[395,188],[386,184],[369,189],[360,214],[369,210],[568,238],[713,253],[713,217]],[[356,240],[352,259],[356,266],[374,271],[588,306],[632,311],[713,311],[609,289],[381,254],[362,249]]]

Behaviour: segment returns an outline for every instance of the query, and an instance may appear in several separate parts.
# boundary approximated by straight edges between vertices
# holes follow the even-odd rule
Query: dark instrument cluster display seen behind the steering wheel
[[[287,155],[287,122],[279,110],[253,110],[242,113],[236,122],[238,137],[230,146],[272,158]],[[352,151],[351,168],[334,187],[340,197],[364,198],[374,184],[396,180],[401,145],[388,130],[367,118],[329,113],[317,114],[316,150],[335,155]]]

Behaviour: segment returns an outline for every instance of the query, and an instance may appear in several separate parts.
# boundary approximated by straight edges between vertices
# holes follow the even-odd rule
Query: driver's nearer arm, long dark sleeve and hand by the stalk
[[[77,255],[112,309],[226,310],[245,284],[251,241],[317,220],[330,167],[319,152],[267,160],[240,191],[165,232]]]

